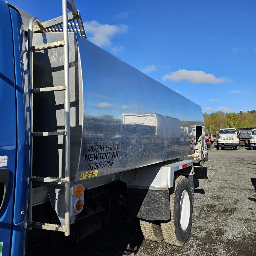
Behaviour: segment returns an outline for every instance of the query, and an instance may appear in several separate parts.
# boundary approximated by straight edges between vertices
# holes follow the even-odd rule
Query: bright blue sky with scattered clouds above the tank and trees
[[[48,20],[60,0],[10,0]],[[202,106],[256,109],[256,2],[76,0],[92,42]]]

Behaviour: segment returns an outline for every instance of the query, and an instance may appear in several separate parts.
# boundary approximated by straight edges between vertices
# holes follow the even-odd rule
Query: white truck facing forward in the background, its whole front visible
[[[240,149],[240,141],[235,128],[223,128],[217,133],[217,148],[222,149]]]

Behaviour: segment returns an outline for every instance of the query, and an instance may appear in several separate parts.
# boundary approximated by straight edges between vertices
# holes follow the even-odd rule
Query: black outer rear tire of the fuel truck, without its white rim
[[[180,201],[183,191],[187,191],[189,195],[189,220],[185,230],[182,229],[180,223]],[[185,176],[178,176],[175,180],[173,193],[170,195],[171,220],[161,222],[163,237],[166,243],[176,246],[182,246],[189,237],[192,224],[192,196],[189,192],[189,183]]]

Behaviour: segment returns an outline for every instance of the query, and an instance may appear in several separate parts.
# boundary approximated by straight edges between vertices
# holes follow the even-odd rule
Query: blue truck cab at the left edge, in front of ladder
[[[25,30],[0,1],[0,255],[24,255],[27,240],[30,110]]]

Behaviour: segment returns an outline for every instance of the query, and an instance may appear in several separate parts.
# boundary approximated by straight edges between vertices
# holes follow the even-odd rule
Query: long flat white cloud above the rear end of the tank
[[[174,82],[189,81],[191,83],[199,84],[219,84],[227,82],[224,77],[217,78],[213,74],[206,74],[198,70],[179,69],[178,71],[171,72],[162,77],[163,80],[171,80]]]

